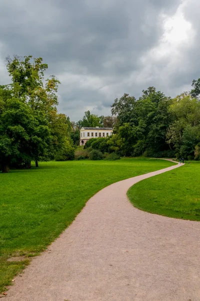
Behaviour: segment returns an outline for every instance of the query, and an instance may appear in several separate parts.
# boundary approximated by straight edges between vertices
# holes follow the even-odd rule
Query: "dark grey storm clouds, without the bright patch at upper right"
[[[124,92],[137,96],[146,84],[164,88],[157,73],[146,79],[144,74],[143,82],[138,80],[144,68],[141,58],[157,47],[162,37],[161,14],[172,16],[180,3],[7,0],[0,8],[0,74],[5,74],[2,60],[7,54],[41,56],[48,63],[48,73],[61,80],[61,112],[75,120],[88,108],[109,114],[114,98]],[[149,68],[165,70],[167,60],[163,58]],[[169,84],[174,91],[174,83],[179,86],[181,78],[181,72],[177,72],[165,90],[170,92]],[[182,85],[189,80],[190,76],[184,77]]]

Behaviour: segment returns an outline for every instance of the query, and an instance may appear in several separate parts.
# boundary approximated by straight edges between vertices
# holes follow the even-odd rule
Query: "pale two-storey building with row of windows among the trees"
[[[80,145],[84,145],[90,138],[108,137],[112,135],[111,127],[81,127],[80,129]]]

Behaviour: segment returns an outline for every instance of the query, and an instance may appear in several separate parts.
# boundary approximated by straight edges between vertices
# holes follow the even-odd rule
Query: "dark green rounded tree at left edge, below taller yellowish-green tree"
[[[0,165],[8,172],[11,164],[28,164],[36,150],[45,153],[50,140],[48,126],[32,115],[32,110],[18,98],[8,99],[0,114]]]

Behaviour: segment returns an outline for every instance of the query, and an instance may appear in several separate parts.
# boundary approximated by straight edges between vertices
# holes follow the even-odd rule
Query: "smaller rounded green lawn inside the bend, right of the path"
[[[143,180],[127,196],[134,207],[173,218],[200,221],[200,162]]]

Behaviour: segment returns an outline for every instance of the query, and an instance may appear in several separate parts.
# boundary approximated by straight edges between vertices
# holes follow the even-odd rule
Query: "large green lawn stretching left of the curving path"
[[[28,256],[44,250],[97,191],[171,165],[141,158],[48,162],[38,169],[0,174],[0,291],[28,264]],[[8,262],[13,255],[25,258]]]

